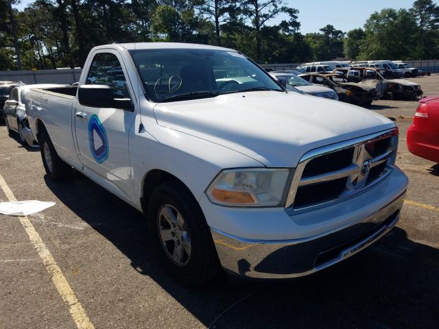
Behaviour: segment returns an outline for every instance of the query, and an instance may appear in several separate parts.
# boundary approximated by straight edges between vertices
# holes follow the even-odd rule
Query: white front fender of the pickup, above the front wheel
[[[136,195],[143,197],[145,175],[154,169],[166,171],[181,180],[196,199],[222,169],[263,167],[263,164],[233,149],[206,141],[155,121],[145,125],[147,132],[130,139],[130,162]]]

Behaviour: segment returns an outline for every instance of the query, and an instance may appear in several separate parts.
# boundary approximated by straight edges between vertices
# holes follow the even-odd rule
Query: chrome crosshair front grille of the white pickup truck
[[[319,206],[379,182],[394,167],[397,146],[394,128],[309,151],[296,168],[286,208]]]

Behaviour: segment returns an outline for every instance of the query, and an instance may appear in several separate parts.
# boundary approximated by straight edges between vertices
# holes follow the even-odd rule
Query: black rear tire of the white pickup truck
[[[43,160],[44,168],[50,180],[54,182],[63,182],[64,180],[71,178],[71,166],[60,159],[47,132],[40,132],[38,135],[38,143],[40,144],[41,158]],[[51,164],[46,160],[46,152],[49,152]]]

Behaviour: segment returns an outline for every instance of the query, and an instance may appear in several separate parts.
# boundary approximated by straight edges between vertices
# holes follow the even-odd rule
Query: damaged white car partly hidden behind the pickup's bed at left
[[[20,137],[20,142],[23,145],[30,147],[38,147],[38,143],[30,130],[27,122],[25,110],[25,94],[30,88],[57,88],[65,86],[62,84],[27,84],[23,86],[16,86],[10,92],[9,98],[5,101],[3,108],[5,124],[8,133],[12,131],[17,132]]]

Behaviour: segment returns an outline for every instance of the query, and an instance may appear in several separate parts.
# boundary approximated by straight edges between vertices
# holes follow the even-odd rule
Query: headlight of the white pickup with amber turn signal
[[[289,169],[228,169],[213,180],[206,194],[223,206],[281,206]]]

